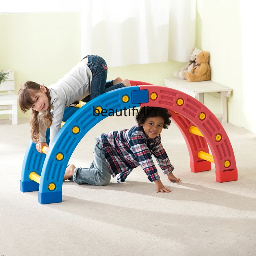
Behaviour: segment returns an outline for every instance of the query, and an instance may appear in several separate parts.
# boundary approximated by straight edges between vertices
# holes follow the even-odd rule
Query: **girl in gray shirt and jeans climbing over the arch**
[[[46,129],[50,130],[50,146],[60,130],[65,107],[85,99],[89,101],[104,92],[124,86],[130,86],[128,79],[117,77],[106,83],[107,63],[97,55],[87,55],[68,74],[47,88],[32,81],[27,81],[19,89],[19,105],[23,113],[32,110],[30,118],[32,141],[42,153],[46,143]],[[89,95],[91,94],[90,98]],[[53,112],[51,113],[51,109]],[[47,154],[48,149],[45,153]]]

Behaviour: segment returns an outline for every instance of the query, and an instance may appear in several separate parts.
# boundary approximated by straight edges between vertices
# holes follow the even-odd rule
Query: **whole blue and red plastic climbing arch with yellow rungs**
[[[139,81],[130,82],[130,87],[104,93],[86,104],[80,102],[76,108],[65,108],[62,128],[47,156],[37,152],[36,145],[30,141],[22,165],[20,190],[38,191],[40,204],[62,202],[65,169],[84,135],[112,110],[143,106],[169,109],[186,141],[192,172],[211,170],[212,162],[216,181],[237,180],[236,159],[228,135],[208,108],[184,92]],[[49,144],[49,129],[46,139]]]

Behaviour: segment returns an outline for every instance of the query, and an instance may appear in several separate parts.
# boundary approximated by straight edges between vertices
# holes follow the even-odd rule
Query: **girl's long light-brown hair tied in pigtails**
[[[42,116],[42,120],[44,124],[49,128],[52,124],[52,114],[51,114],[51,108],[50,108],[50,101],[51,96],[49,89],[46,88],[46,96],[49,100],[49,108],[46,109],[46,112]],[[19,95],[19,105],[20,109],[23,113],[27,112],[35,103],[32,97],[36,97],[36,92],[40,91],[40,84],[37,84],[32,81],[26,81],[24,84],[21,85],[18,95]],[[33,142],[39,141],[40,136],[40,120],[39,120],[39,112],[31,109],[31,116],[30,116],[30,126],[31,126],[31,136]]]

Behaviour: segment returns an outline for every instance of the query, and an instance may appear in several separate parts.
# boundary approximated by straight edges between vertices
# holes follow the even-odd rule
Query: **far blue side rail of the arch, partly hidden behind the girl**
[[[63,115],[63,121],[67,122],[68,118],[72,116],[79,108],[65,108],[65,112]],[[50,129],[47,129],[46,131],[46,142],[49,144],[49,135],[50,135]],[[39,184],[36,183],[33,180],[29,179],[29,173],[30,172],[36,172],[38,175],[41,176],[44,160],[46,155],[40,154],[36,150],[36,144],[30,140],[23,164],[22,164],[22,170],[21,170],[21,179],[20,179],[20,191],[22,192],[29,192],[29,191],[38,191],[39,190]]]

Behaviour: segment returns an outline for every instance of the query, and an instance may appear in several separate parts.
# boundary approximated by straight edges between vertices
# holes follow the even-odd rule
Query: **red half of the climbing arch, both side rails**
[[[140,85],[140,90],[148,90],[149,101],[148,103],[140,104],[141,107],[161,107],[170,110],[172,120],[178,125],[187,143],[192,172],[211,169],[211,163],[198,158],[197,155],[201,150],[209,153],[208,143],[214,159],[216,181],[237,180],[236,159],[228,135],[217,117],[204,104],[190,95],[172,88],[150,84],[141,85],[145,83],[139,81],[131,81],[131,84]],[[156,93],[155,100],[150,99],[151,93]],[[181,105],[177,104],[179,99],[183,102]],[[199,118],[201,113],[205,115],[203,120]],[[189,127],[192,125],[196,126],[204,137],[191,134]],[[217,134],[221,136],[219,141],[215,140]],[[224,165],[227,161],[229,166]]]

